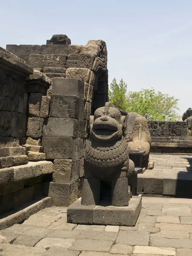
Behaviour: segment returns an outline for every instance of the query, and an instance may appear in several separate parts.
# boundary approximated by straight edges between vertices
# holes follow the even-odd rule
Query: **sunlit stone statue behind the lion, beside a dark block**
[[[151,145],[151,135],[148,129],[147,119],[143,116],[138,116],[135,119],[134,127],[128,143],[129,150],[145,150],[143,154],[143,168],[148,167],[149,151]]]

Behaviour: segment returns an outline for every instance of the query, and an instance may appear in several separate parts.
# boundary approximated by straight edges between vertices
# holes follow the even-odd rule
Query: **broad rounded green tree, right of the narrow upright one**
[[[154,89],[142,89],[139,92],[128,92],[128,112],[136,112],[150,121],[178,121],[180,116],[176,113],[178,99],[161,92],[155,93]]]

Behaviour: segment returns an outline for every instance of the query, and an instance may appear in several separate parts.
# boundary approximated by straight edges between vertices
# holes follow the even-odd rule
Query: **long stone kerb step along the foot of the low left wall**
[[[0,230],[6,229],[8,227],[12,227],[14,224],[23,223],[26,219],[28,219],[31,215],[38,212],[41,209],[51,206],[51,198],[46,197],[42,198],[40,201],[31,201],[27,205],[12,210],[10,212],[6,212],[3,215],[0,215]]]

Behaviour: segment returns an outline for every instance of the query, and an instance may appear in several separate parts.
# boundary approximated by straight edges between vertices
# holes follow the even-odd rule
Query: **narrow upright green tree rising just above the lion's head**
[[[109,88],[109,101],[122,110],[127,109],[126,100],[127,84],[121,79],[119,84],[117,84],[114,78]]]

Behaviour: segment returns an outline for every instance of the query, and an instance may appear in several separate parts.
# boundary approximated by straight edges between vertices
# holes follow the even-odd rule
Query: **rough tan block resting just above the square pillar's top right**
[[[87,84],[94,84],[95,74],[87,68],[68,68],[66,70],[66,78],[75,78],[84,81]]]

